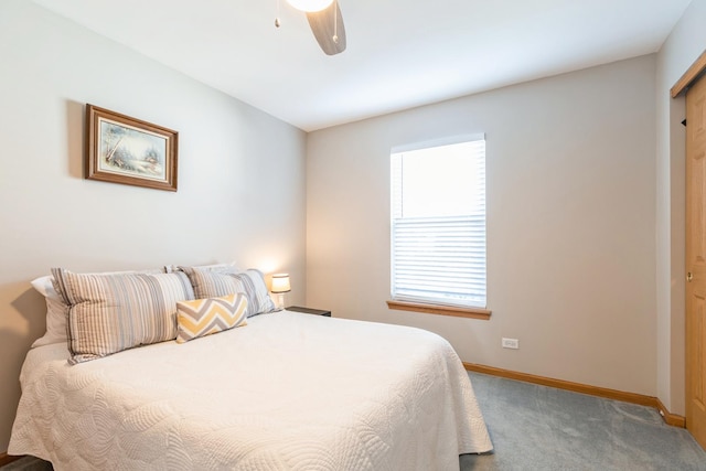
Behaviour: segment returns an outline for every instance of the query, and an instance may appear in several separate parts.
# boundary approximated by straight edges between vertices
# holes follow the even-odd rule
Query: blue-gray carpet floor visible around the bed
[[[654,409],[478,373],[470,376],[495,450],[461,457],[462,471],[706,471],[706,451],[686,430],[665,425]],[[2,467],[51,469],[32,458]]]

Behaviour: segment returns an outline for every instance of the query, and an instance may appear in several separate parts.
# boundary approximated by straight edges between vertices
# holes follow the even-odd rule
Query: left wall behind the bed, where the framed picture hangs
[[[0,452],[53,266],[236,259],[303,302],[304,132],[25,0],[0,2]],[[86,103],[178,130],[179,192],[83,180]]]

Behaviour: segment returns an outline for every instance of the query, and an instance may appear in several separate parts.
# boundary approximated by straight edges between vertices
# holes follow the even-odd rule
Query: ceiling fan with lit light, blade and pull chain
[[[307,13],[311,32],[324,53],[335,55],[345,51],[345,26],[339,0],[287,0],[287,3]],[[279,19],[275,25],[279,28]]]

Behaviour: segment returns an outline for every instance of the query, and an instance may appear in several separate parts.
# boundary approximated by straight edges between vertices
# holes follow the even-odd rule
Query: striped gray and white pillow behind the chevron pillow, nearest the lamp
[[[248,318],[275,310],[275,302],[269,297],[265,276],[260,270],[238,271],[237,268],[224,268],[212,271],[196,267],[180,268],[189,276],[196,298],[216,298],[243,292],[247,297]]]

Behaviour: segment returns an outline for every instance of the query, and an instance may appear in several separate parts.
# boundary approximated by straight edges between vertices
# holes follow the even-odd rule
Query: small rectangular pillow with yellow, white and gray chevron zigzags
[[[247,324],[247,298],[242,292],[176,303],[176,343]]]

